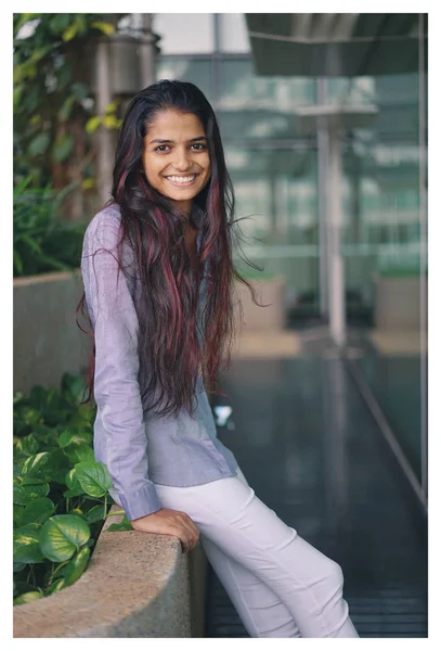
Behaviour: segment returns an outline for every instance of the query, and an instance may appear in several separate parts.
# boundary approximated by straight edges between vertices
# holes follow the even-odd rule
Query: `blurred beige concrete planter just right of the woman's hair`
[[[250,282],[257,290],[257,299],[259,303],[271,305],[269,307],[255,305],[248,288],[244,283],[237,282],[235,285],[236,292],[244,310],[242,333],[246,335],[248,332],[283,330],[285,327],[285,279],[283,277],[274,277],[251,280]]]

